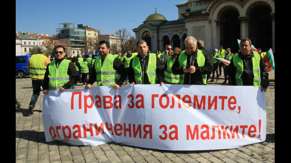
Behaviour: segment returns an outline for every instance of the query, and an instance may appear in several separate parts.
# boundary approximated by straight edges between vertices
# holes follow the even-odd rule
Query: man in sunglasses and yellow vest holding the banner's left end
[[[79,75],[75,65],[70,60],[65,59],[66,49],[64,46],[55,47],[55,57],[48,64],[45,77],[43,79],[43,93],[59,89],[64,92],[66,89],[72,89],[72,86],[79,80]]]

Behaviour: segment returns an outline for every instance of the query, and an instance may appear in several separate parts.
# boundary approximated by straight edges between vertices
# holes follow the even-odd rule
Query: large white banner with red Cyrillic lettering
[[[49,91],[42,120],[47,142],[116,142],[165,150],[233,149],[266,139],[261,87],[94,86]]]

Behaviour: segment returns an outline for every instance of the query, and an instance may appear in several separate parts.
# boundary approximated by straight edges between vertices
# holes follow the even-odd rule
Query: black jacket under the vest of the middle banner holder
[[[135,56],[135,57],[138,57],[140,59],[141,65],[144,65],[144,67],[147,67],[148,66],[148,58],[149,58],[148,56],[149,56],[149,54],[146,55],[145,59],[143,59],[143,62],[142,62],[142,59],[140,58],[140,54],[137,54],[137,56]],[[133,58],[129,62],[129,69],[128,69],[127,75],[128,75],[129,83],[134,82],[136,84],[136,82],[135,82],[135,70],[132,67],[132,61],[133,61]],[[142,71],[143,71],[142,72],[142,79],[143,79],[142,84],[151,84],[150,81],[148,80],[146,68],[142,68]],[[156,56],[156,73],[157,73],[156,84],[160,84],[160,83],[164,82],[163,64],[157,56]]]

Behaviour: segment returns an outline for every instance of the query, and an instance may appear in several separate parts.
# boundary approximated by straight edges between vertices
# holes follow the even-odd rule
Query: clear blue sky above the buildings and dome
[[[16,0],[15,31],[53,36],[59,23],[89,25],[101,34],[132,29],[143,24],[148,15],[162,14],[167,20],[178,19],[176,4],[186,0]],[[63,28],[63,26],[60,26]]]

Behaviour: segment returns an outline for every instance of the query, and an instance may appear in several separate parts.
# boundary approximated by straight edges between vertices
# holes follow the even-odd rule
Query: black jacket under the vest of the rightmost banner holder
[[[253,51],[250,51],[249,55],[244,56],[241,52],[238,53],[238,57],[243,61],[243,73],[241,79],[243,85],[254,85],[254,73],[253,73],[253,62],[252,57],[254,57]],[[261,85],[263,88],[268,88],[269,86],[269,74],[268,67],[265,61],[260,56],[260,70],[261,70]],[[230,61],[227,74],[230,77],[230,85],[237,85],[235,82],[236,67],[233,63],[233,58]]]

